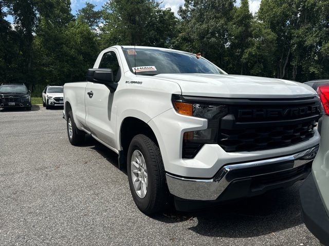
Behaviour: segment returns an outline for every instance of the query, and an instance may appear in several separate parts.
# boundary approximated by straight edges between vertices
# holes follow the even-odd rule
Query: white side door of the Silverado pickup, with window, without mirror
[[[114,79],[118,83],[121,70],[115,51],[104,53],[99,68],[112,69]],[[115,93],[111,93],[105,85],[89,82],[85,90],[86,124],[90,132],[105,142],[117,148],[116,142],[116,111]]]

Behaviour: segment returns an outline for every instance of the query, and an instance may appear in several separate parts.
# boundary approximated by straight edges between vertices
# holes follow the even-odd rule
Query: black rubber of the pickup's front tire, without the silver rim
[[[143,198],[137,195],[132,180],[131,160],[135,150],[142,153],[147,167],[148,187]],[[130,143],[127,153],[127,174],[130,191],[136,206],[141,212],[153,214],[162,211],[168,206],[170,195],[160,149],[152,139],[143,134],[136,135]]]

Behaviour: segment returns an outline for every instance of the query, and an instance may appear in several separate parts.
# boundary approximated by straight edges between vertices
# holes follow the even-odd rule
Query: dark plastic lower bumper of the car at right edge
[[[325,211],[313,174],[310,174],[300,188],[302,218],[307,229],[323,245],[329,245],[329,216]]]

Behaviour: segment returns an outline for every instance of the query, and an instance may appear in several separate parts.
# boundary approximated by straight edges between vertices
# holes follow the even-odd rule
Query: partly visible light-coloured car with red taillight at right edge
[[[321,144],[312,172],[300,188],[300,198],[306,227],[321,245],[329,245],[329,85],[321,85],[318,93],[324,111]]]

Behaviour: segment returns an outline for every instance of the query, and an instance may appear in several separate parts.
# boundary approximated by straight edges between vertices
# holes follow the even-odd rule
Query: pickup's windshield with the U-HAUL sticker
[[[130,70],[139,75],[160,73],[223,73],[210,61],[196,55],[148,48],[123,48]],[[135,57],[136,56],[136,57]]]

